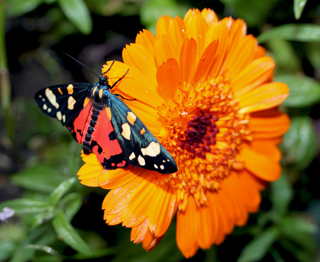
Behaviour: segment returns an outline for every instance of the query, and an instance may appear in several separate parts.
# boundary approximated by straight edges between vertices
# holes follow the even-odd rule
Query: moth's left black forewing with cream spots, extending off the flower
[[[51,86],[38,91],[34,98],[42,112],[66,125],[83,109],[90,86],[88,83]]]

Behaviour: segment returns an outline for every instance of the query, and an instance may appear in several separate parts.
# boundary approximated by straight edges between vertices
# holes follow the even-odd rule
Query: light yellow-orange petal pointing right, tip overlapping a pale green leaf
[[[279,105],[288,96],[286,84],[272,82],[239,97],[239,113],[249,113]]]

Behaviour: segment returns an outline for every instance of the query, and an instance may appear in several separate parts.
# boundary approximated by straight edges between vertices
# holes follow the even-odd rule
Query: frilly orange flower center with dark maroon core
[[[192,195],[205,204],[206,191],[218,190],[232,170],[243,168],[235,158],[240,145],[250,141],[248,115],[238,113],[228,79],[182,84],[170,105],[159,108],[169,134],[162,144],[178,165],[166,175],[177,190],[178,208],[184,210]]]

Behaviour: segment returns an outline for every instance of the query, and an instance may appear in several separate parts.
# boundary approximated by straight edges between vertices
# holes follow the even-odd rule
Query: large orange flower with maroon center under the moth
[[[242,20],[218,21],[212,10],[160,18],[156,37],[143,30],[124,63],[107,72],[114,88],[175,159],[169,175],[129,166],[103,170],[82,155],[81,183],[111,189],[106,223],[131,227],[131,240],[153,248],[177,214],[176,241],[185,257],[219,244],[255,212],[267,182],[281,172],[277,145],[288,117],[277,106],[285,84],[272,82],[274,62]],[[110,66],[105,65],[103,72]]]

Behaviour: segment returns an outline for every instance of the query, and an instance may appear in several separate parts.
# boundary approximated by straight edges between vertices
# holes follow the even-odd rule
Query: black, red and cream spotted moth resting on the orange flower
[[[102,74],[95,84],[47,87],[35,94],[35,100],[42,112],[69,129],[84,154],[95,153],[105,170],[132,165],[174,173],[177,166],[169,152],[122,101],[126,98],[111,93],[126,73],[112,86]]]

